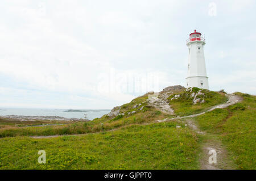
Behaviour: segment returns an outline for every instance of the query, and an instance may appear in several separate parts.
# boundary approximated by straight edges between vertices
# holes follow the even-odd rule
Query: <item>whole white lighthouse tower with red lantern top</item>
[[[204,60],[205,39],[201,33],[193,32],[187,40],[188,46],[188,76],[187,87],[209,89],[208,77]]]

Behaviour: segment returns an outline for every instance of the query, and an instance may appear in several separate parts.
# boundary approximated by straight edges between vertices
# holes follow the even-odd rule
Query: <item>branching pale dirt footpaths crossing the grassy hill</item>
[[[189,119],[189,117],[195,117],[199,115],[203,115],[206,112],[215,110],[216,108],[225,108],[228,107],[232,104],[235,104],[237,102],[241,102],[242,98],[240,96],[234,95],[234,94],[229,94],[228,96],[228,101],[224,104],[220,104],[217,106],[214,106],[210,108],[208,111],[204,111],[201,113],[197,113],[194,115],[189,115],[189,116],[183,116],[183,117],[175,117],[171,119],[164,119],[164,120],[157,120],[158,122],[163,122],[163,121],[170,121],[174,119],[183,119],[185,123],[196,133],[200,134],[203,139],[203,144],[201,146],[201,154],[200,156],[200,169],[202,170],[220,170],[220,169],[236,169],[236,165],[232,162],[230,156],[228,155],[228,151],[226,151],[225,146],[222,144],[221,140],[218,138],[218,136],[214,134],[209,134],[201,131],[199,127],[197,127],[195,121],[193,119]],[[166,97],[164,95],[159,96],[159,98],[151,97],[148,99],[148,103],[151,106],[154,106],[158,108],[159,110],[169,113],[171,115],[174,114],[174,110],[170,107],[170,105],[166,101]],[[148,124],[148,123],[147,123]],[[114,131],[117,130],[112,129],[109,131]],[[73,134],[73,136],[80,136],[83,134]],[[65,135],[55,135],[55,136],[33,136],[32,138],[50,138],[50,137],[59,137],[59,136],[65,136]],[[216,152],[216,163],[209,163],[209,157],[213,154],[209,154],[209,151],[215,151]]]

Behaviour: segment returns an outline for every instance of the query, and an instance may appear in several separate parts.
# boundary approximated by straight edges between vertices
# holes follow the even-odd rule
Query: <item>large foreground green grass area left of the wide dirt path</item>
[[[175,122],[114,132],[0,139],[0,169],[198,169],[196,134]],[[46,164],[38,151],[46,150]]]

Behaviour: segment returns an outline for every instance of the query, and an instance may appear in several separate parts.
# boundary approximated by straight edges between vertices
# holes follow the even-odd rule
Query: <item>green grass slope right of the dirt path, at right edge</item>
[[[236,93],[242,103],[195,118],[201,129],[216,133],[234,155],[238,169],[256,169],[256,96]]]

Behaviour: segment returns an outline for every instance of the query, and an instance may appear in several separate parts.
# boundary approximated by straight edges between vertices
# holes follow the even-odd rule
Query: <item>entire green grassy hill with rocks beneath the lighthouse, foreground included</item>
[[[256,99],[235,94],[242,102],[189,120],[182,116],[225,103],[225,92],[171,87],[154,103],[150,92],[89,122],[20,127],[26,123],[1,120],[0,169],[202,169],[209,139],[225,145],[221,169],[255,169]],[[38,163],[39,150],[46,150],[46,164]]]

